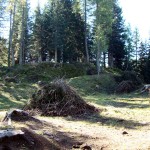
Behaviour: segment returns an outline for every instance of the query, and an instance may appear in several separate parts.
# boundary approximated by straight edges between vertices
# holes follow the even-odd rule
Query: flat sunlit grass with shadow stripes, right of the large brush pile
[[[150,122],[150,98],[130,95],[97,94],[84,97],[102,110],[105,124],[125,128],[143,127]],[[93,118],[94,119],[94,118]]]

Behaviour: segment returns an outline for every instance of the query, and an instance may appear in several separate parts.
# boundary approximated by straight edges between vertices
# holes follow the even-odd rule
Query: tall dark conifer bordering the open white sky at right
[[[125,29],[122,17],[122,10],[117,2],[114,3],[113,11],[114,22],[112,24],[112,33],[109,37],[108,64],[109,67],[116,67],[122,69],[126,55]]]

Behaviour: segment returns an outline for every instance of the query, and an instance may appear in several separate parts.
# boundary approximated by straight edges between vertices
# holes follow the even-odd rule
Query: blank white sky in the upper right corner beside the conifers
[[[142,39],[150,38],[150,0],[119,0],[126,23],[138,28]]]

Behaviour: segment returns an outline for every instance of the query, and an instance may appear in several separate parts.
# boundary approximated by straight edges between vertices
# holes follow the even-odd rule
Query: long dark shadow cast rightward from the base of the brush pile
[[[69,117],[65,118],[68,121],[85,121],[87,123],[97,123],[99,125],[124,127],[128,129],[138,129],[139,127],[148,126],[147,124],[142,124],[134,120],[125,120],[115,117],[100,116],[100,114],[88,114],[82,117]]]

